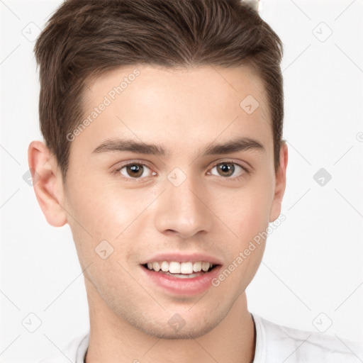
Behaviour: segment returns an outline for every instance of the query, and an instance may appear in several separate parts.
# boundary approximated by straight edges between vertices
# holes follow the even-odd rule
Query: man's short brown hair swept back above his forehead
[[[84,82],[128,65],[252,66],[267,93],[275,170],[279,167],[283,46],[259,13],[240,0],[66,0],[34,51],[40,130],[63,180],[70,150],[66,135],[84,116]]]

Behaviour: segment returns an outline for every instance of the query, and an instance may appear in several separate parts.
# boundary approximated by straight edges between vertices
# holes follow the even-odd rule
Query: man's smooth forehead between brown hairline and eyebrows
[[[121,67],[87,84],[83,108],[84,118],[96,117],[79,140],[94,148],[110,136],[184,149],[236,134],[272,143],[262,79],[250,67]]]

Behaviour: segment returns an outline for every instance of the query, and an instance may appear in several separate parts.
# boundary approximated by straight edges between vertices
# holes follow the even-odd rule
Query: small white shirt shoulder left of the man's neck
[[[67,345],[56,349],[53,354],[38,363],[84,363],[84,356],[89,345],[89,332],[74,337]]]

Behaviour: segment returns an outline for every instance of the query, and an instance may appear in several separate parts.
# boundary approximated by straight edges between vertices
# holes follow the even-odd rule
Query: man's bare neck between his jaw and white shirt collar
[[[86,291],[90,320],[86,363],[251,363],[255,357],[255,325],[247,310],[245,292],[225,318],[205,335],[162,339],[145,334],[116,315],[89,281]]]

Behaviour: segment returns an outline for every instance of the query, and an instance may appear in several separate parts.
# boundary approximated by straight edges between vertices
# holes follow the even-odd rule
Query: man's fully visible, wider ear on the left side
[[[39,206],[50,225],[67,223],[64,206],[62,172],[45,143],[32,141],[28,147],[28,164]]]

